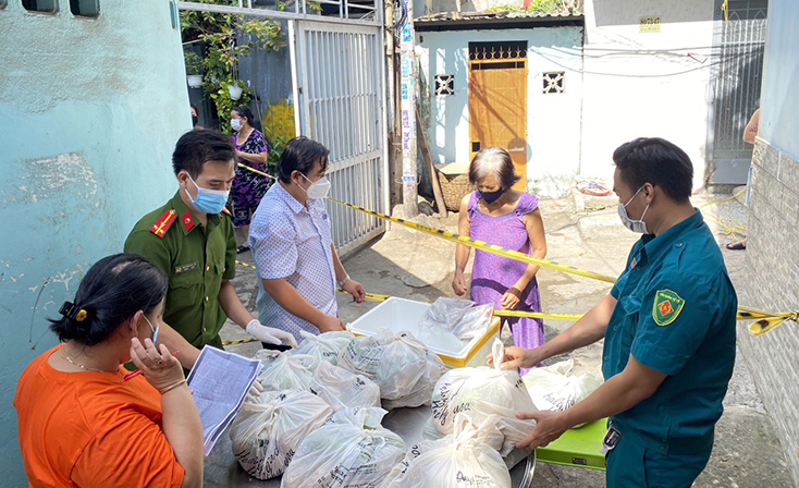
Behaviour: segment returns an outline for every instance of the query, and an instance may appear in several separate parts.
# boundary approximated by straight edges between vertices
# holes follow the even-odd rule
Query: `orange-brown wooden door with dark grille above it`
[[[527,187],[527,42],[469,42],[469,159],[507,150]]]

